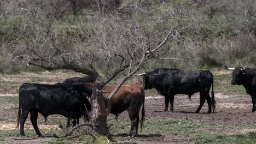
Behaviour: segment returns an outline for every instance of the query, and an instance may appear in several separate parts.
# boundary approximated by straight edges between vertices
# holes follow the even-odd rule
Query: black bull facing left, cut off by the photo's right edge
[[[225,65],[226,67],[226,65]],[[232,72],[232,81],[231,85],[243,85],[245,87],[246,92],[251,95],[253,108],[252,112],[256,111],[255,103],[256,103],[256,69],[252,68],[228,68],[229,70],[233,70]]]

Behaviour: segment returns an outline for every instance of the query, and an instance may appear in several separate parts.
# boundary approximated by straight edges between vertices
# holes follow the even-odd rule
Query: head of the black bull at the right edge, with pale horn
[[[226,65],[225,65],[226,67]],[[231,85],[242,85],[243,84],[243,80],[245,80],[245,74],[246,74],[246,70],[245,68],[242,67],[236,67],[236,68],[228,68],[229,70],[233,70],[232,71],[232,81],[231,81]]]

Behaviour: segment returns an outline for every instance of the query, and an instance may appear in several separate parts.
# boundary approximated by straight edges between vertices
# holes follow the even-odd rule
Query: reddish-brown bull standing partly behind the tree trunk
[[[93,83],[86,83],[88,87],[93,87]],[[102,88],[104,91],[108,91],[107,93],[103,93],[104,96],[109,95],[112,91],[114,91],[115,86],[105,85]],[[144,110],[144,101],[145,94],[144,89],[141,88],[140,85],[124,85],[121,86],[117,93],[113,95],[110,99],[111,110],[110,113],[118,116],[119,113],[127,110],[129,113],[129,118],[131,120],[131,130],[129,135],[136,136],[138,134],[138,124],[139,124],[139,109],[141,109],[141,128],[143,126],[143,122],[145,119],[145,110]]]

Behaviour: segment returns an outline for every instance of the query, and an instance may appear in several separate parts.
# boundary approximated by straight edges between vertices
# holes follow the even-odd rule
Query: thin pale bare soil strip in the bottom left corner
[[[8,137],[3,141],[4,144],[27,144],[27,143],[33,143],[33,144],[39,144],[39,143],[45,143],[47,141],[50,141],[51,137],[30,137],[30,138],[25,138],[25,137]]]

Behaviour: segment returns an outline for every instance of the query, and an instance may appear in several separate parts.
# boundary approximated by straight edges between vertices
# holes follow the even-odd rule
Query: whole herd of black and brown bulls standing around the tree
[[[243,85],[246,92],[251,95],[253,108],[256,111],[256,69],[252,68],[228,68],[232,72],[232,85]],[[176,94],[187,94],[189,99],[194,93],[200,92],[200,105],[195,111],[199,113],[205,101],[208,104],[208,113],[215,110],[215,99],[213,92],[213,74],[208,70],[184,71],[180,69],[155,69],[150,72],[138,74],[143,76],[143,87],[140,85],[124,85],[110,99],[110,113],[118,116],[119,113],[127,110],[131,120],[130,136],[136,136],[139,125],[139,110],[141,111],[141,127],[144,122],[145,110],[144,89],[155,88],[158,93],[165,97],[165,109],[173,111],[173,100]],[[30,120],[38,136],[41,136],[38,126],[38,112],[46,121],[49,115],[62,115],[68,118],[67,126],[79,123],[79,118],[84,121],[90,120],[91,104],[88,98],[91,97],[94,81],[90,76],[73,77],[55,85],[39,83],[23,83],[19,89],[19,110],[17,128],[20,124],[20,135],[25,136],[24,124],[30,113]],[[212,86],[211,96],[209,94]],[[104,86],[107,91],[104,96],[114,90],[115,86]]]

